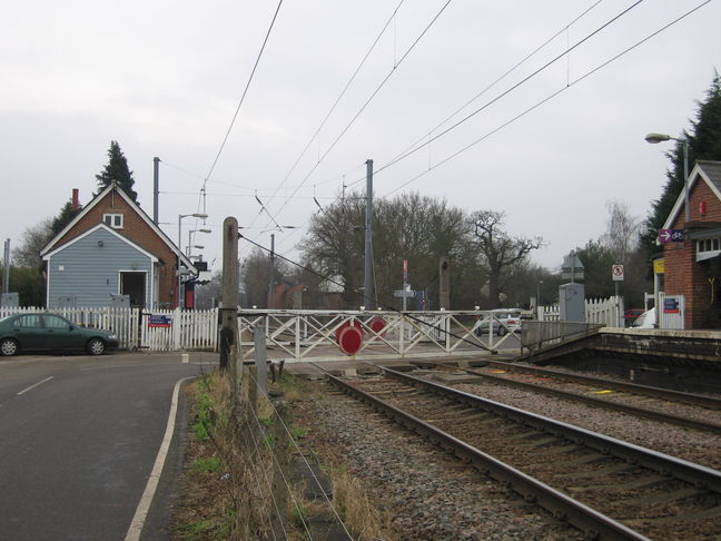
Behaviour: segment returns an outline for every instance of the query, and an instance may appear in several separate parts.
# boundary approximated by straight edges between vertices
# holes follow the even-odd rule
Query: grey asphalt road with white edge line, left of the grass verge
[[[217,355],[1,358],[0,540],[125,540],[174,386],[204,363]]]

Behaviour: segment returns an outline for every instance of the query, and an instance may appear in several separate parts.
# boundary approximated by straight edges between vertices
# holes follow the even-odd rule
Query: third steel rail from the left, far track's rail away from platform
[[[612,402],[604,399],[596,399],[595,396],[586,396],[584,394],[574,393],[572,391],[562,391],[560,388],[545,387],[543,385],[537,385],[535,383],[529,382],[518,382],[515,380],[508,380],[506,377],[495,376],[492,374],[484,374],[473,368],[463,368],[453,366],[450,364],[438,364],[437,366],[448,367],[461,370],[467,374],[477,375],[480,377],[492,381],[500,385],[506,385],[510,387],[521,388],[523,391],[531,391],[533,393],[542,393],[549,396],[557,396],[560,399],[573,400],[575,402],[582,402],[594,407],[602,407],[604,410],[611,410],[622,413],[628,413],[630,415],[635,415],[639,417],[650,419],[652,421],[661,421],[668,424],[674,424],[676,426],[683,426],[684,429],[693,429],[703,432],[710,432],[712,434],[721,435],[721,424],[708,423],[704,421],[699,421],[693,417],[687,417],[683,415],[674,415],[671,413],[664,413],[658,410],[652,410],[649,407],[634,406],[629,404],[622,404],[619,402]],[[575,383],[575,382],[574,382]],[[669,399],[666,399],[669,400]]]

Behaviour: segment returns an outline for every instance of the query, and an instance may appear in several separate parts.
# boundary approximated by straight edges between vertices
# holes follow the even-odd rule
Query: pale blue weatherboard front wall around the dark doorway
[[[65,270],[59,269],[61,266]],[[76,297],[79,307],[109,306],[110,295],[120,292],[121,270],[146,272],[146,299],[151,298],[150,257],[113,234],[98,229],[50,257],[48,307],[57,307],[59,297]]]

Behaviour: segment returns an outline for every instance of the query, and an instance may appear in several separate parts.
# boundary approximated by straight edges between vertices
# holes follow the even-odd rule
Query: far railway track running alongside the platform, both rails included
[[[537,370],[525,366],[518,368],[511,363],[494,362],[491,363],[491,365],[503,368],[503,371],[508,371],[508,373],[501,375],[498,373],[488,373],[487,371],[477,368],[464,368],[445,364],[438,364],[437,366],[446,372],[461,371],[466,374],[472,374],[497,385],[512,386],[523,391],[581,402],[594,407],[623,412],[638,417],[650,419],[676,426],[683,426],[685,429],[693,429],[721,435],[721,414],[719,413],[721,412],[721,400],[712,396],[682,393],[679,391],[622,383],[599,377],[576,376],[575,374],[566,374],[550,370]],[[531,374],[535,377],[544,378],[545,381],[543,384],[522,381],[514,376],[514,373],[516,372]],[[559,382],[573,383],[585,388],[580,388],[579,391],[561,388],[557,384],[556,386],[553,386],[553,382],[549,378]],[[590,393],[603,394],[594,395]],[[643,397],[642,403],[639,403],[638,397]],[[671,413],[668,411],[669,407],[678,409],[679,403],[688,406],[688,414]],[[709,413],[711,413],[711,415],[709,415]],[[714,419],[708,419],[709,416]]]

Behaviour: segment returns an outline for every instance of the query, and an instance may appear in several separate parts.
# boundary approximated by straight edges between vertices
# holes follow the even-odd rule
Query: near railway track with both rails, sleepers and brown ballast
[[[717,470],[381,368],[382,378],[326,375],[593,539],[721,535]]]

